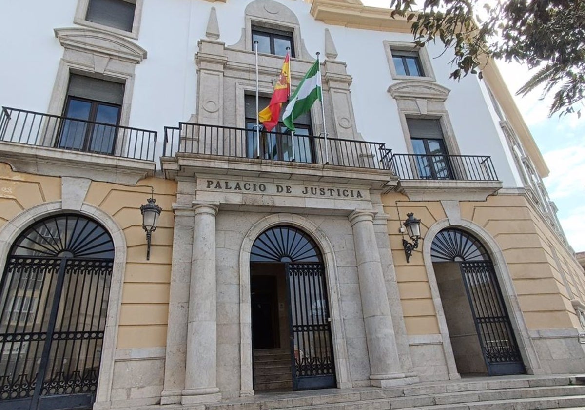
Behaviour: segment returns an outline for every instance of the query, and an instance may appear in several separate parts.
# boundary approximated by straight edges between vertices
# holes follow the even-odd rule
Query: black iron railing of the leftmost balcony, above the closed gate
[[[2,107],[0,141],[154,160],[157,132]]]

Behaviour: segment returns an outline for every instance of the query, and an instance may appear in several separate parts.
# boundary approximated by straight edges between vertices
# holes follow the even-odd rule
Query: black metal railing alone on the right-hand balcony
[[[392,169],[400,179],[497,181],[490,156],[394,154]]]

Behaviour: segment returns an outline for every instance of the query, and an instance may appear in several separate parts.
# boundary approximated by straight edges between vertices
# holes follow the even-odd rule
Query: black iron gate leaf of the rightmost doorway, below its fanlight
[[[460,262],[488,375],[525,373],[491,261]]]

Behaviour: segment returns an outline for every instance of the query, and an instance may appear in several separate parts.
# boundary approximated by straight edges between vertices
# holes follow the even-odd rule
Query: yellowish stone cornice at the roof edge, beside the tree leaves
[[[390,16],[391,10],[364,6],[358,1],[313,0],[311,15],[327,24],[395,33],[410,33],[405,18]]]

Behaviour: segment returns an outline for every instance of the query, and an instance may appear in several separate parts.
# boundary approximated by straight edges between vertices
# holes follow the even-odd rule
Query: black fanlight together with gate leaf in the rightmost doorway
[[[458,262],[489,375],[525,373],[514,330],[486,248],[472,235],[449,228],[431,246],[435,263]]]

